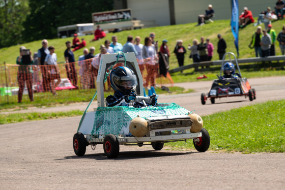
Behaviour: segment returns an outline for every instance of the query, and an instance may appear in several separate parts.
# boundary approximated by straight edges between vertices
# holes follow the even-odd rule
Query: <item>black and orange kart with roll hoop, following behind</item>
[[[232,62],[231,55],[235,58],[235,63],[237,65],[237,76],[238,78],[223,78],[222,77],[222,68],[225,64],[225,56],[229,55],[230,62]],[[234,63],[233,62],[233,63]],[[250,101],[256,99],[255,89],[251,88],[246,78],[242,78],[238,60],[234,53],[228,52],[225,53],[222,59],[222,65],[220,70],[220,76],[217,80],[213,81],[212,87],[208,92],[208,96],[205,93],[201,94],[201,102],[203,105],[206,104],[207,99],[211,100],[212,104],[215,104],[215,99],[223,97],[240,97],[244,96],[249,97]]]

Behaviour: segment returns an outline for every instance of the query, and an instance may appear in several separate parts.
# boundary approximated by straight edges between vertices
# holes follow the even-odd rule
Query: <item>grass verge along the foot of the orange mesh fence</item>
[[[185,89],[182,87],[169,87],[171,94],[176,93],[189,93],[192,92],[192,89]],[[57,91],[58,96],[54,97],[52,93],[34,93],[34,102],[30,102],[27,95],[23,95],[23,101],[21,104],[17,103],[17,96],[9,97],[10,103],[6,102],[6,97],[0,97],[0,107],[1,111],[7,109],[26,109],[27,107],[42,107],[42,106],[55,106],[55,105],[66,105],[77,102],[90,102],[92,97],[95,94],[96,89],[87,89],[87,90],[62,90]],[[167,91],[157,88],[155,90],[157,94],[168,94]],[[148,92],[147,92],[148,93]],[[105,98],[113,94],[113,90],[107,91],[104,93]],[[95,98],[97,100],[97,97]],[[1,113],[1,112],[0,112]]]

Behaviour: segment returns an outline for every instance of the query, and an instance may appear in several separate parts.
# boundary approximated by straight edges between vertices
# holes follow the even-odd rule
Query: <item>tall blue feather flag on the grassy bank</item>
[[[237,48],[237,53],[239,56],[239,1],[232,0],[232,32],[235,38],[235,46]]]

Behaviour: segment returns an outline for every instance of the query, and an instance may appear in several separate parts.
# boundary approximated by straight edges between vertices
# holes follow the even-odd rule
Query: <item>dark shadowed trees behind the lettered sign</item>
[[[59,26],[91,23],[92,13],[113,9],[112,0],[30,0],[23,31],[26,41],[58,37]]]

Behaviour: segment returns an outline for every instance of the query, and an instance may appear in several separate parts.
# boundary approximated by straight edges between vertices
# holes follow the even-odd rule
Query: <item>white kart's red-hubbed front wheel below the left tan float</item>
[[[109,159],[115,159],[119,155],[119,141],[115,135],[107,135],[104,138],[103,149]]]

